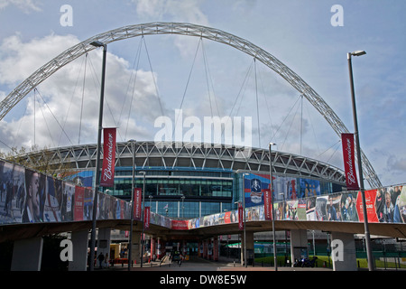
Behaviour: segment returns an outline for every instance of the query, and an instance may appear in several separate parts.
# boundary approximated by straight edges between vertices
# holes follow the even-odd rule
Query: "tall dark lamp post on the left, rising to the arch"
[[[92,232],[90,238],[90,262],[89,270],[94,270],[95,248],[96,248],[96,219],[97,219],[97,194],[100,187],[100,146],[101,134],[103,130],[103,104],[105,98],[105,79],[106,79],[106,51],[107,45],[102,42],[91,42],[90,45],[95,47],[103,47],[103,65],[102,65],[102,79],[100,89],[100,104],[98,111],[98,133],[97,133],[97,158],[96,158],[96,183],[95,183],[95,196],[93,199],[93,219],[92,219]]]

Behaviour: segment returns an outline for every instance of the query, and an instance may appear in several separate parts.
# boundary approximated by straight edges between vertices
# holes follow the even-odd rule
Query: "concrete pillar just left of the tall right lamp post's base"
[[[334,271],[357,271],[353,234],[331,232],[331,258]]]

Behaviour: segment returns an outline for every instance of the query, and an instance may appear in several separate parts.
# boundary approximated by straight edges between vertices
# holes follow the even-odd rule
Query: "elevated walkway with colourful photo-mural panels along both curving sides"
[[[33,172],[15,163],[0,161],[0,167],[0,242],[14,241],[15,262],[18,256],[23,256],[24,250],[30,248],[30,251],[35,251],[32,244],[42,247],[43,236],[60,232],[71,232],[72,238],[76,233],[82,234],[82,255],[86,257],[95,191]],[[364,193],[370,234],[406,238],[406,185]],[[247,243],[250,238],[254,243],[254,237],[250,237],[254,236],[254,232],[272,231],[272,220],[265,219],[264,210],[263,205],[245,208]],[[299,232],[298,236],[303,238],[302,233],[306,230],[329,231],[332,236],[336,234],[347,240],[354,240],[351,237],[354,234],[364,234],[359,191],[308,195],[299,200],[275,202],[274,216],[274,229],[290,230],[291,244],[296,238],[293,232]],[[150,212],[148,217],[144,228],[141,219],[134,219],[133,231],[144,230],[152,238],[162,240],[198,241],[241,233],[238,210],[195,219],[171,219],[154,212]],[[101,231],[129,230],[130,223],[130,203],[97,192],[99,239]],[[307,238],[300,242],[297,247],[307,246]]]

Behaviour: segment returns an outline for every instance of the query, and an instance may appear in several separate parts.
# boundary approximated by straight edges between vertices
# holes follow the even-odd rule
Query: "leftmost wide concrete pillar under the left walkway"
[[[42,237],[14,241],[11,271],[40,271]]]

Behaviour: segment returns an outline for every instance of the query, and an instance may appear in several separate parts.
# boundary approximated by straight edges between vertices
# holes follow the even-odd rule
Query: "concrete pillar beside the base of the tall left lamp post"
[[[72,232],[72,261],[69,271],[86,271],[88,269],[88,230]]]

